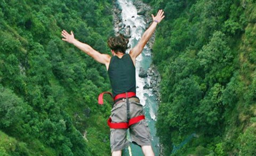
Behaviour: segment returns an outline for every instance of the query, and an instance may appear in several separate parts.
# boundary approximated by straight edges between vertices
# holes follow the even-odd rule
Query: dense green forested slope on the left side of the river
[[[61,30],[107,53],[111,3],[0,1],[0,155],[110,153],[110,105],[97,105],[110,89],[105,66]]]

